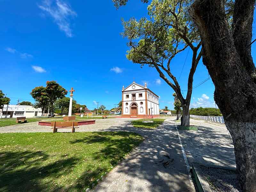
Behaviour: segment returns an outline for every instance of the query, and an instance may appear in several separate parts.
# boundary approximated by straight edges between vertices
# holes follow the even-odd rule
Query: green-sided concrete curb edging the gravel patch
[[[192,173],[195,177],[196,186],[199,192],[212,192],[209,183],[204,179],[204,173],[199,164],[192,163]]]

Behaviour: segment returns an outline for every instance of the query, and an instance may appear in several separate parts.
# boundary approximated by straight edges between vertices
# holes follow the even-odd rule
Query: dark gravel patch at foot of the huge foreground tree
[[[236,185],[236,172],[200,166],[213,192],[241,192]]]

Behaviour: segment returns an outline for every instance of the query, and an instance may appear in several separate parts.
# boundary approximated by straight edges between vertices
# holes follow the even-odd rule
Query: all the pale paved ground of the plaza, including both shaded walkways
[[[76,129],[76,132],[136,132],[145,139],[103,178],[94,191],[191,191],[193,184],[188,177],[174,118],[167,118],[157,129],[134,128],[132,120],[135,119],[96,119],[95,124]],[[235,167],[234,146],[225,125],[194,119],[190,122],[198,127],[198,131],[179,130],[188,163]],[[70,132],[70,129],[60,131]],[[52,132],[52,129],[33,122],[1,127],[0,132]]]

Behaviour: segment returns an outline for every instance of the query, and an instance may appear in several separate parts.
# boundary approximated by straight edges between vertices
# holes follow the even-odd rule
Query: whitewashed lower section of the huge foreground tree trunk
[[[225,124],[232,135],[238,182],[244,192],[256,191],[256,123],[225,118]]]

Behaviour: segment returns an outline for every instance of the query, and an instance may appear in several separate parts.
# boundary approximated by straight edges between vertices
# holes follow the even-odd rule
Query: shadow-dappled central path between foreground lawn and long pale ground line
[[[167,119],[157,130],[130,131],[146,139],[100,181],[94,192],[189,192],[188,172],[174,122]]]

